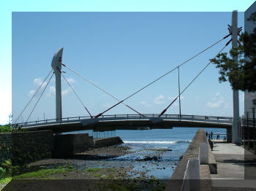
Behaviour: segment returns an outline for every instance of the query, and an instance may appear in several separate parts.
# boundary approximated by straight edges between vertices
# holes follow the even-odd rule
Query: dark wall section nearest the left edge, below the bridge
[[[53,131],[0,133],[0,164],[12,159],[13,165],[23,165],[52,157]]]

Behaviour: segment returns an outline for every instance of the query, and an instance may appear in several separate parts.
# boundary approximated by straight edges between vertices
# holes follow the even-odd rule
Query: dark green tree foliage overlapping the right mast
[[[256,12],[252,13],[248,20],[256,21]],[[235,90],[256,90],[256,28],[252,34],[241,34],[238,47],[227,53],[221,53],[216,58],[211,59],[217,69],[219,69],[219,82],[230,82]],[[238,63],[233,58],[238,58]],[[246,58],[246,59],[244,59]]]

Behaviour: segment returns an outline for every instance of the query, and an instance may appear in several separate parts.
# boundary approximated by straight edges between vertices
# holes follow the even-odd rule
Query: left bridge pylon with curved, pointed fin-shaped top
[[[61,47],[54,55],[51,66],[56,77],[56,120],[61,121],[62,107],[61,107],[61,61],[62,61],[63,47]]]

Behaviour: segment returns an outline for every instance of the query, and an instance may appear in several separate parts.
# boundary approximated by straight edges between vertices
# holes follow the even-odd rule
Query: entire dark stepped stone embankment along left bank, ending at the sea
[[[54,134],[52,130],[0,133],[0,164],[23,165],[52,157],[71,157],[89,148],[121,144],[120,137],[94,140],[88,133]]]

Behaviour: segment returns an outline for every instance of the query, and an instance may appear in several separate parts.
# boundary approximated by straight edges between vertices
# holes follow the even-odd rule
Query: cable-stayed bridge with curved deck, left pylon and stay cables
[[[102,87],[99,87],[99,85],[96,85],[94,82],[92,82],[87,77],[84,77],[82,74],[80,74],[75,69],[72,69],[67,64],[64,64],[62,61],[62,54],[63,54],[63,48],[60,48],[55,55],[53,56],[53,61],[51,63],[52,69],[48,73],[48,75],[45,77],[42,84],[38,87],[34,95],[31,96],[31,99],[26,104],[22,112],[18,115],[18,117],[15,119],[15,122],[12,124],[13,126],[22,126],[23,128],[26,128],[27,130],[53,130],[55,133],[62,133],[62,132],[71,132],[75,130],[109,130],[110,128],[118,129],[131,129],[131,128],[138,128],[138,127],[149,127],[149,128],[173,128],[175,127],[206,127],[206,128],[227,128],[230,129],[234,127],[234,124],[236,127],[239,126],[240,120],[239,117],[233,118],[233,117],[213,117],[213,116],[200,116],[200,115],[184,115],[181,114],[181,94],[184,93],[190,85],[192,85],[193,82],[200,76],[200,74],[203,73],[207,69],[207,67],[211,64],[211,61],[209,61],[206,66],[201,69],[198,74],[192,79],[191,82],[183,89],[180,89],[179,85],[179,69],[181,66],[184,66],[189,61],[192,61],[192,59],[196,58],[198,55],[201,55],[203,52],[206,52],[206,50],[209,50],[211,47],[214,47],[216,44],[219,44],[220,42],[223,42],[227,37],[232,36],[232,39],[225,42],[224,46],[222,47],[219,52],[217,52],[216,56],[214,58],[217,58],[217,56],[225,49],[225,47],[230,44],[230,42],[233,42],[233,39],[237,39],[237,36],[239,32],[241,31],[241,28],[231,27],[229,26],[229,34],[219,39],[217,42],[214,42],[214,44],[211,44],[209,47],[206,47],[205,49],[198,52],[196,55],[192,56],[192,58],[189,58],[187,61],[184,61],[183,63],[179,64],[178,66],[174,67],[170,71],[167,71],[162,76],[158,77],[157,79],[152,80],[152,82],[148,83],[147,85],[141,87],[139,90],[136,90],[134,93],[131,93],[126,98],[119,99],[115,95],[109,93],[107,90],[105,90]],[[237,42],[236,42],[237,44]],[[109,95],[111,98],[115,99],[117,101],[116,104],[113,106],[110,106],[110,108],[106,109],[105,111],[97,114],[92,115],[91,112],[89,112],[89,109],[86,107],[86,104],[83,103],[82,99],[79,97],[78,93],[75,92],[74,88],[69,84],[67,78],[64,75],[64,72],[61,71],[61,67],[64,67],[68,69],[69,71],[72,71],[72,73],[78,75],[82,79],[84,79],[86,82],[89,82],[94,87],[97,87],[102,92]],[[140,91],[146,89],[146,87],[149,87],[150,85],[154,84],[155,82],[159,81],[159,79],[162,79],[163,77],[167,76],[168,74],[172,73],[173,71],[178,71],[178,95],[176,98],[173,99],[173,101],[170,102],[169,105],[165,107],[165,109],[162,110],[160,114],[142,114],[138,112],[138,109],[135,109],[133,106],[129,106],[128,104],[125,104],[125,101],[127,101],[129,98],[131,98],[133,95],[140,93]],[[29,121],[31,114],[34,112],[34,109],[36,108],[40,98],[42,97],[43,93],[45,92],[45,89],[48,87],[48,84],[50,80],[53,77],[53,74],[55,74],[56,77],[56,118],[51,120],[38,120],[38,121]],[[50,77],[50,78],[49,78]],[[80,104],[83,105],[83,108],[88,112],[88,117],[62,117],[62,106],[61,106],[61,77],[64,79],[65,82],[67,82],[67,85],[71,88],[73,93],[75,93],[75,96],[80,101]],[[45,84],[45,87],[43,87],[43,84]],[[34,105],[33,109],[31,110],[29,117],[27,118],[26,122],[23,123],[16,123],[18,119],[20,118],[21,114],[25,111],[27,106],[31,103],[31,100],[35,98],[35,95],[39,93],[39,89],[42,88],[42,93],[39,95],[39,98],[37,99],[36,104]],[[179,114],[167,114],[167,109],[172,106],[172,104],[178,101],[179,102]],[[113,115],[106,115],[105,113],[110,111],[110,109],[113,109],[114,107],[118,106],[119,104],[123,104],[132,112],[135,112],[136,114],[113,114]],[[234,106],[238,104],[238,98],[234,99],[233,102]],[[234,107],[235,108],[235,107]],[[237,109],[236,109],[237,110]],[[237,111],[236,111],[237,112]],[[235,116],[235,115],[234,115]]]

